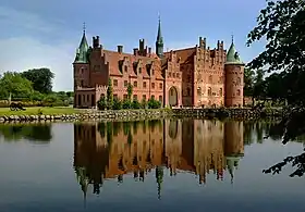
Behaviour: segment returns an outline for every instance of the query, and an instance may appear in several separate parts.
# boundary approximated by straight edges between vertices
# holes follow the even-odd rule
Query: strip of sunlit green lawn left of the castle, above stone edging
[[[33,107],[25,108],[26,111],[11,111],[9,108],[0,108],[0,116],[3,115],[38,115],[38,112],[41,111],[42,115],[60,115],[60,114],[73,114],[81,113],[82,110],[73,109],[71,107]]]

